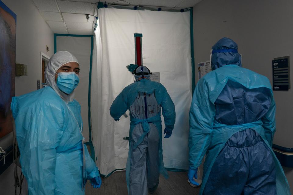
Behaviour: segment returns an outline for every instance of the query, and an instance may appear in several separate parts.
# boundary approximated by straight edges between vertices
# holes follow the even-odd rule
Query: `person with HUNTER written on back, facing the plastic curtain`
[[[118,121],[127,109],[130,111],[129,153],[126,163],[128,194],[154,193],[159,175],[166,178],[162,155],[162,121],[165,138],[172,135],[175,124],[175,106],[161,83],[150,80],[150,70],[138,66],[133,71],[136,82],[128,85],[113,101],[110,114]]]

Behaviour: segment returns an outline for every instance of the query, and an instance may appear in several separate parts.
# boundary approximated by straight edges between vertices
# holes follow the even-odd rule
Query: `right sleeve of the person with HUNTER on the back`
[[[163,90],[164,97],[161,101],[162,114],[164,116],[166,129],[173,130],[176,118],[175,106],[165,87]]]

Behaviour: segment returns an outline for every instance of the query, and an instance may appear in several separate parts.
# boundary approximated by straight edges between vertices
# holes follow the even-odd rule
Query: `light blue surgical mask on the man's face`
[[[57,78],[57,86],[58,88],[66,93],[71,94],[71,92],[78,86],[79,76],[75,74],[75,72],[70,73],[56,73],[58,75]]]

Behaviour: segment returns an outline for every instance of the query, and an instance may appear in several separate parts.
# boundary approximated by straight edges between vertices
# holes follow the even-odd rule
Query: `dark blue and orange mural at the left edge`
[[[10,112],[15,92],[16,15],[0,0],[0,137],[13,130]]]

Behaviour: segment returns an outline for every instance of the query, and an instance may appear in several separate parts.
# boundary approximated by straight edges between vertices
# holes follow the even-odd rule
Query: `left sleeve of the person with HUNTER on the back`
[[[121,93],[115,98],[111,107],[110,107],[110,115],[118,120],[128,109],[128,101],[127,101],[127,90],[121,91]]]

